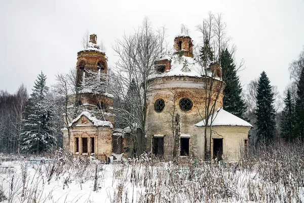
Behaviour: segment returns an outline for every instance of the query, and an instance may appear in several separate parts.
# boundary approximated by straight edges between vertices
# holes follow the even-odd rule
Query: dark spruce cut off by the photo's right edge
[[[301,71],[300,79],[297,85],[297,97],[295,99],[296,123],[295,137],[304,138],[304,69]]]

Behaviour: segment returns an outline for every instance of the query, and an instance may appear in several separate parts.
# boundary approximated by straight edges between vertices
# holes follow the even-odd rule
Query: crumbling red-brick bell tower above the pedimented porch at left
[[[112,125],[115,124],[115,117],[112,114],[113,109],[113,95],[106,92],[105,89],[94,90],[90,88],[82,88],[82,82],[85,78],[90,76],[90,72],[99,73],[107,76],[107,57],[105,52],[96,44],[97,36],[90,35],[90,41],[87,48],[77,53],[76,65],[76,87],[78,88],[77,104],[80,109],[85,111],[92,111],[96,118],[110,121]],[[104,80],[104,77],[100,77]]]

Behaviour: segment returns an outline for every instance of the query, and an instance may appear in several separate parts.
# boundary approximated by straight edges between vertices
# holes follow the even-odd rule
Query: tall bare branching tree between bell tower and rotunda
[[[148,18],[143,19],[142,25],[130,35],[124,35],[122,40],[117,40],[113,47],[119,56],[116,63],[116,72],[120,83],[120,92],[115,92],[116,97],[133,106],[134,111],[126,112],[120,108],[122,114],[130,114],[126,122],[133,123],[142,131],[141,149],[145,149],[145,122],[146,122],[146,93],[149,89],[147,80],[154,71],[155,61],[165,54],[165,28],[154,30]],[[135,84],[133,93],[127,98],[130,84]],[[130,95],[129,95],[130,96]],[[123,107],[123,105],[122,105]],[[130,118],[131,117],[131,118]]]

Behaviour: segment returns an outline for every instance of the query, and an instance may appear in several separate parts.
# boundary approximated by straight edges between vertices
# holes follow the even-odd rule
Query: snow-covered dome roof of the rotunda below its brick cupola
[[[179,58],[178,55],[173,56],[165,56],[164,59],[171,60],[171,69],[165,71],[164,73],[153,73],[149,76],[149,79],[153,78],[162,78],[169,76],[189,76],[189,77],[204,77],[204,69],[200,65],[199,61],[195,58],[188,56],[181,56]],[[160,60],[164,60],[161,58]],[[208,75],[212,75],[212,73],[208,73]],[[216,80],[221,80],[220,78],[215,78]]]

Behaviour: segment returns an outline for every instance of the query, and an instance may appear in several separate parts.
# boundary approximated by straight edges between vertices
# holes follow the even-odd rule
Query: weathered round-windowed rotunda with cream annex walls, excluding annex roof
[[[215,110],[222,107],[225,84],[221,81],[220,65],[211,63],[208,69],[202,67],[193,58],[193,43],[188,36],[176,36],[174,49],[173,56],[157,61],[156,73],[149,80],[147,150],[166,159],[173,157],[174,149],[177,156],[204,158],[204,146],[209,149],[210,142],[205,143],[205,127],[195,124],[205,119],[208,99],[211,99],[209,112],[213,105]],[[211,157],[237,160],[240,149],[244,149],[248,141],[250,127],[249,123],[247,126],[231,126],[230,123],[214,126],[211,139],[208,127]],[[218,139],[222,139],[221,143]]]

